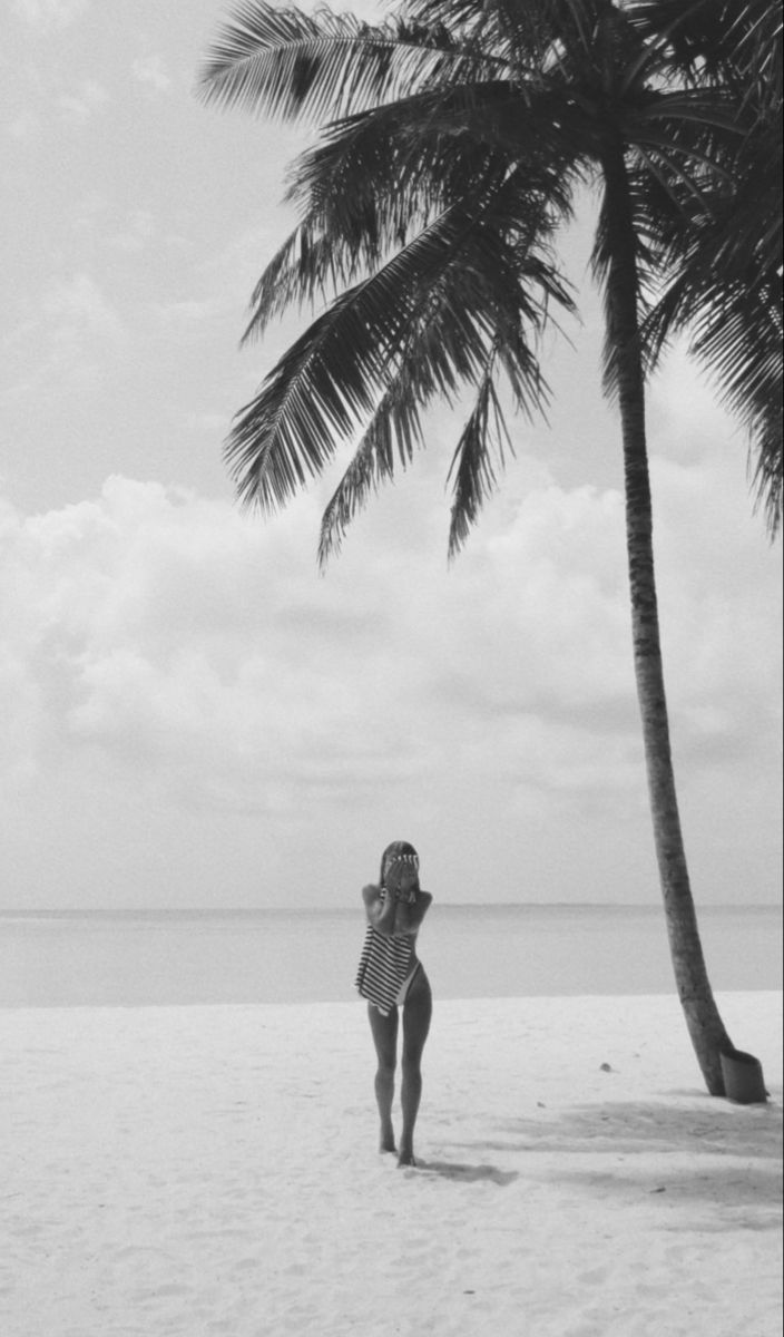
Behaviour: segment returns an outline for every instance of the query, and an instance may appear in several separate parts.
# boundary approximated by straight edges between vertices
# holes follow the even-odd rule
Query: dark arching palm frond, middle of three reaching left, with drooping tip
[[[497,83],[429,91],[329,127],[290,172],[287,198],[302,221],[254,289],[244,340],[290,305],[327,301],[373,273],[465,197],[501,199],[516,158],[506,198],[514,195],[517,207],[497,226],[528,235],[545,201],[553,218],[568,218],[580,172],[569,135],[561,95],[532,99],[521,116],[509,86]]]

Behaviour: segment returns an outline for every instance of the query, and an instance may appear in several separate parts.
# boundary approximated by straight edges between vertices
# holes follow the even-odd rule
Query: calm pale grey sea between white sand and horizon
[[[781,988],[781,908],[705,906],[711,983]],[[0,1007],[357,997],[357,910],[0,912]],[[674,992],[658,905],[442,905],[419,933],[437,997]]]

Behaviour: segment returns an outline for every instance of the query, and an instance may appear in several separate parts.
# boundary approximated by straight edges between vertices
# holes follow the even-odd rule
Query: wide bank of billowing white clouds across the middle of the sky
[[[689,471],[657,472],[677,516]],[[4,662],[41,715],[17,761],[44,763],[44,739],[89,745],[191,797],[260,806],[298,786],[334,802],[374,782],[379,751],[389,774],[454,753],[525,787],[622,787],[640,743],[621,500],[550,485],[513,509],[457,571],[363,541],[326,579],[309,499],[264,525],[118,477],[93,501],[7,520]],[[769,727],[775,655],[760,655],[763,600],[716,582],[719,531],[688,583],[700,556],[668,536],[662,622],[680,743],[705,758]]]

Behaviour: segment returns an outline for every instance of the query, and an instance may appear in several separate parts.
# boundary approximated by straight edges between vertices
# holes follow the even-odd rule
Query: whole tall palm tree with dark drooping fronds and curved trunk
[[[719,340],[723,386],[756,432],[771,491],[776,475],[769,341],[747,345],[757,316],[732,308],[740,299],[729,278],[711,286],[699,245],[720,246],[744,146],[757,143],[757,103],[736,87],[755,5],[723,5],[737,20],[735,39],[707,35],[704,8],[407,0],[370,25],[242,0],[202,90],[219,106],[323,126],[291,171],[299,222],[256,285],[246,338],[292,303],[327,305],[240,410],[227,444],[240,499],[263,511],[319,475],[341,441],[355,444],[323,517],[322,562],[378,484],[423,445],[429,405],[455,404],[470,388],[450,468],[450,555],[459,550],[504,463],[506,405],[530,414],[546,402],[538,340],[573,309],[557,227],[580,186],[597,193],[593,266],[605,295],[605,386],[621,422],[654,845],[687,1025],[708,1090],[720,1095],[720,1055],[732,1044],[689,886],[653,567],[645,376],[670,330],[696,322],[704,356]],[[731,328],[716,332],[731,308]]]

